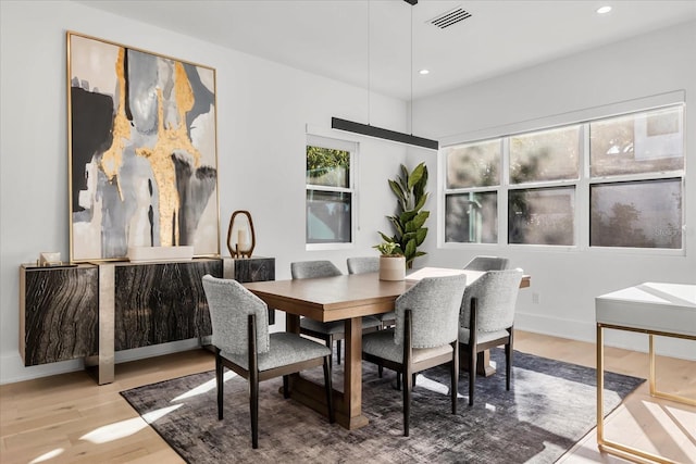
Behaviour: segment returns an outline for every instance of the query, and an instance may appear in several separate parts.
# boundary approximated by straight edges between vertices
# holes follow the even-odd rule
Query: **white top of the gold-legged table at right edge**
[[[598,324],[696,337],[696,285],[644,283],[595,299]]]

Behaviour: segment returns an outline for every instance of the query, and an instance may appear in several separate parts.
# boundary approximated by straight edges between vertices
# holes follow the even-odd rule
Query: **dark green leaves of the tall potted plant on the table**
[[[425,163],[420,163],[409,173],[408,168],[401,164],[401,174],[396,180],[389,180],[389,187],[397,198],[397,213],[387,218],[395,234],[391,237],[383,233],[380,235],[384,242],[398,244],[401,254],[406,258],[406,266],[411,268],[413,260],[425,254],[424,251],[419,251],[418,247],[425,240],[427,227],[423,225],[431,214],[430,211],[423,210],[428,197],[425,191],[427,166]]]

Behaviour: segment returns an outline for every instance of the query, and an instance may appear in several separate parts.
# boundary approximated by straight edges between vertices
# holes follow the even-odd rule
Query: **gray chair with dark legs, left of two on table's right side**
[[[403,436],[409,436],[411,390],[415,373],[449,364],[452,414],[459,378],[458,319],[465,275],[426,277],[395,302],[394,329],[366,334],[362,359],[388,367],[403,378]]]

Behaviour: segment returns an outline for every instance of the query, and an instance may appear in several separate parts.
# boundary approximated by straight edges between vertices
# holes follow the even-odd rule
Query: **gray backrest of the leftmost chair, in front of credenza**
[[[249,314],[257,318],[257,351],[270,349],[269,312],[266,304],[244,288],[237,280],[222,279],[210,274],[203,276],[203,290],[208,299],[213,327],[212,343],[223,352],[244,354],[249,350]]]

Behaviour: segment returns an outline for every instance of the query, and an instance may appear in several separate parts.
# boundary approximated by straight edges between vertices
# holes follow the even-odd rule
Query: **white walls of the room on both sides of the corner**
[[[289,263],[369,254],[376,230],[388,230],[394,200],[386,179],[398,165],[427,161],[433,179],[428,209],[437,211],[437,160],[431,151],[360,138],[360,212],[357,244],[336,252],[304,251],[304,134],[325,131],[331,116],[366,120],[364,89],[223,49],[191,37],[124,20],[70,1],[0,2],[0,384],[73,371],[79,362],[24,367],[17,351],[18,266],[39,251],[69,254],[65,32],[100,37],[212,66],[217,71],[217,152],[221,252],[235,210],[249,210],[256,254],[276,258],[277,278]],[[451,138],[489,127],[685,89],[696,100],[696,25],[605,47],[417,102],[420,136]],[[371,123],[407,129],[402,101],[373,95]],[[694,117],[686,111],[687,162],[694,164]],[[685,208],[696,222],[696,170],[688,173]],[[435,217],[434,217],[435,218]],[[497,247],[438,250],[431,221],[427,256],[419,265],[460,266],[472,255],[500,253],[533,276],[520,293],[518,327],[594,340],[594,297],[645,280],[696,283],[696,236],[686,231],[685,256],[526,251]],[[693,226],[692,226],[693,227]],[[532,292],[539,304],[532,304]],[[282,325],[282,319],[277,324]],[[637,336],[608,337],[645,350]],[[121,360],[172,351],[182,343],[122,353]],[[693,347],[662,340],[658,349],[692,356]],[[135,350],[134,350],[135,351]],[[117,356],[119,360],[119,356]]]

